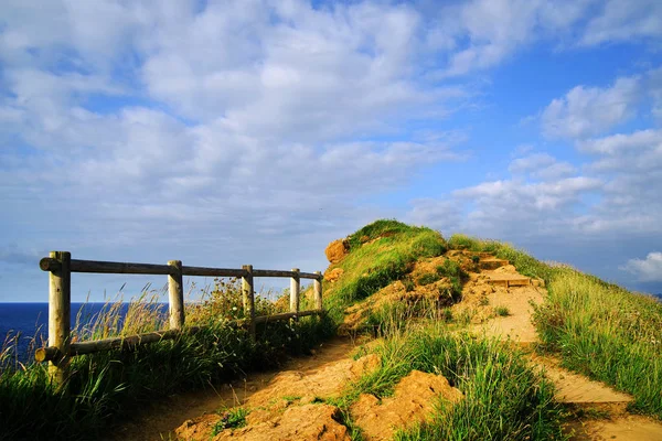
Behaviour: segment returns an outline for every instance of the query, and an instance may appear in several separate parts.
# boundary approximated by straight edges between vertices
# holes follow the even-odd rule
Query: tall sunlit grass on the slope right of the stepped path
[[[634,409],[662,418],[662,304],[560,269],[535,312],[543,342],[564,364],[633,395]]]

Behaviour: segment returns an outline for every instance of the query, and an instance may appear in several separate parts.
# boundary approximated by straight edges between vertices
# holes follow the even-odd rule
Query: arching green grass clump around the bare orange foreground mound
[[[451,333],[444,325],[393,332],[373,349],[381,367],[335,400],[351,408],[360,394],[385,398],[413,369],[444,375],[466,399],[440,400],[434,418],[396,433],[396,440],[563,439],[553,387],[508,342]]]

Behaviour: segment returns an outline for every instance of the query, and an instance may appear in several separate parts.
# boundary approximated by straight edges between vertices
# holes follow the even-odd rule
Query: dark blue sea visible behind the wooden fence
[[[72,302],[72,327],[79,318],[79,324],[90,323],[99,312],[108,309],[109,304],[102,302]],[[159,304],[162,311],[168,310],[168,304]],[[120,314],[124,316],[129,308],[129,303],[122,303]],[[121,325],[121,320],[119,322]],[[29,353],[34,349],[31,347],[45,346],[49,336],[49,303],[19,303],[0,302],[0,351],[4,348],[10,340],[17,338],[15,358],[24,363],[28,361]]]

